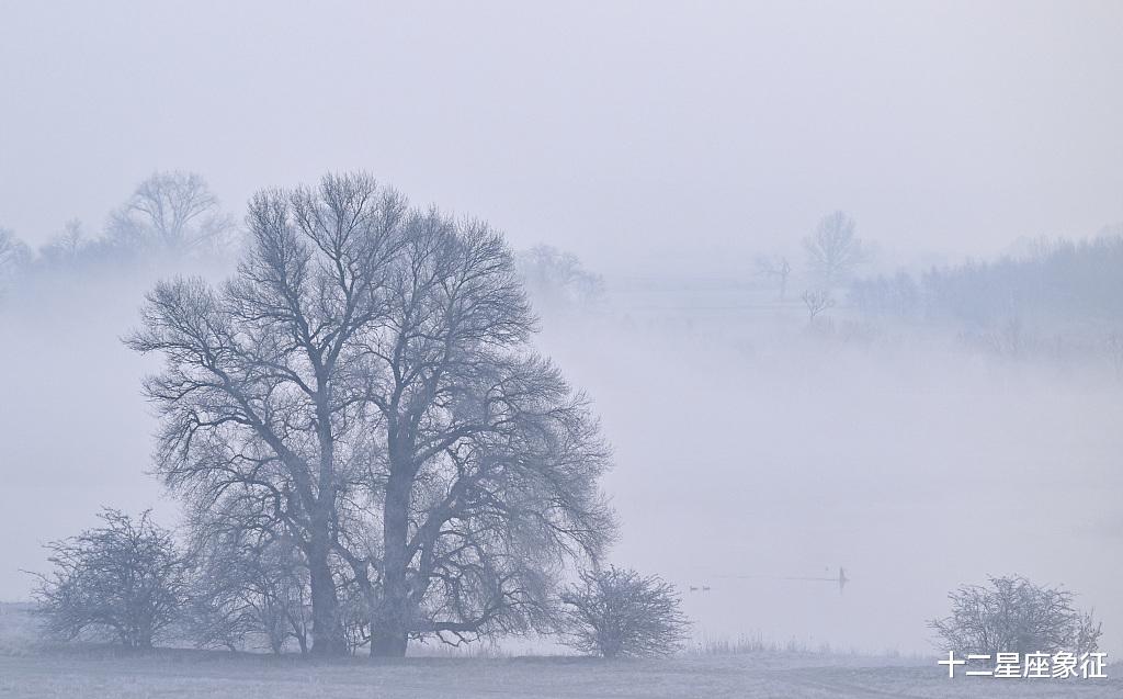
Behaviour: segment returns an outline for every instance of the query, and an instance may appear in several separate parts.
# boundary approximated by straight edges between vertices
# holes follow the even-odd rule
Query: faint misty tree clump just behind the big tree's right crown
[[[604,294],[604,279],[573,253],[538,245],[519,253],[517,262],[531,299],[545,308],[586,307]]]

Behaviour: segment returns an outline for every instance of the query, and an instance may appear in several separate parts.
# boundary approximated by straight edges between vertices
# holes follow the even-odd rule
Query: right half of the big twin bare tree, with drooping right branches
[[[385,435],[380,655],[403,654],[409,637],[527,628],[549,571],[595,557],[612,532],[596,489],[608,451],[584,398],[530,352],[533,319],[502,237],[419,216],[401,269],[371,394]]]

